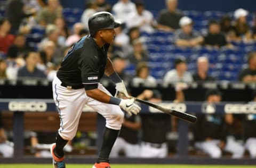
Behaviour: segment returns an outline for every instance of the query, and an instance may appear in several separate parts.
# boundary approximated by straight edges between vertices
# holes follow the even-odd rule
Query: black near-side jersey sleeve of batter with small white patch
[[[99,83],[99,57],[93,48],[87,47],[81,54],[81,75],[82,83]]]

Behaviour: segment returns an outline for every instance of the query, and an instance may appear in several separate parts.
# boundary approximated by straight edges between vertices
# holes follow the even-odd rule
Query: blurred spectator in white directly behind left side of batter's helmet
[[[97,4],[95,0],[90,0],[86,3],[86,9],[84,10],[82,17],[81,17],[81,22],[84,25],[84,28],[89,30],[88,26],[88,21],[89,18],[97,12]]]

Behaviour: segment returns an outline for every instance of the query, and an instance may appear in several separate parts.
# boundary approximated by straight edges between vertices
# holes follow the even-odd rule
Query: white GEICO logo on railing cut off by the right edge
[[[256,104],[226,104],[225,113],[256,113]]]

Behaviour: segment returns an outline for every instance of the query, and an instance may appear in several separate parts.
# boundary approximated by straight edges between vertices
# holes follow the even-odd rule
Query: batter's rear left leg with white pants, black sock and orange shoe
[[[77,131],[79,118],[87,100],[84,89],[67,89],[60,86],[61,81],[55,78],[53,81],[53,98],[60,116],[60,128],[56,136],[56,143],[51,147],[51,153],[56,164],[63,165],[63,148],[68,140],[72,140]]]

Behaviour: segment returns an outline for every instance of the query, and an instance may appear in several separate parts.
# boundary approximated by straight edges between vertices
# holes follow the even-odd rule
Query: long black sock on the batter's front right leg
[[[97,163],[100,162],[108,162],[109,163],[109,154],[113,145],[115,144],[116,138],[118,136],[119,130],[113,130],[110,128],[105,128],[103,134],[103,142],[100,150],[99,157],[97,159]]]

